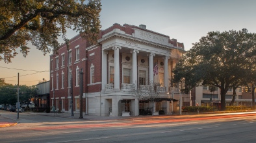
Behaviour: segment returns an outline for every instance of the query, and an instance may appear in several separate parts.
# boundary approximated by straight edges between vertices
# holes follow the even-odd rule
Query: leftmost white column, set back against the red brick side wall
[[[105,90],[105,85],[107,85],[107,55],[108,52],[107,51],[102,51],[102,61],[101,61],[101,90]]]

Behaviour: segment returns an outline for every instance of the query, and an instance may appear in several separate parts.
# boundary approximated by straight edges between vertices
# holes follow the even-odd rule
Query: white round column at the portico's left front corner
[[[119,49],[120,46],[114,46],[114,89],[120,90],[120,66],[119,66]]]

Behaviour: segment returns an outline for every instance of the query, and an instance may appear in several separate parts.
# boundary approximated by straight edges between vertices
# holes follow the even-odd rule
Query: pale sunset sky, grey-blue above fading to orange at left
[[[114,23],[139,26],[175,38],[192,48],[210,31],[242,30],[256,33],[255,0],[102,0],[100,21],[102,30]],[[77,33],[68,30],[68,38]],[[60,39],[60,43],[62,43]],[[36,85],[49,80],[49,55],[30,46],[26,58],[18,54],[12,63],[0,61],[0,78],[6,83]],[[45,72],[46,71],[46,72]],[[27,75],[29,74],[29,75]]]

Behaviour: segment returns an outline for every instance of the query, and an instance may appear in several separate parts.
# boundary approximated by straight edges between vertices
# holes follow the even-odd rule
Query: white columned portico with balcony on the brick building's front
[[[102,46],[101,93],[104,94],[101,98],[103,101],[111,99],[107,109],[112,109],[112,116],[122,115],[122,109],[127,107],[130,109],[126,111],[131,115],[139,114],[136,108],[140,101],[129,92],[134,85],[148,89],[149,83],[159,83],[160,98],[167,98],[169,94],[169,77],[173,68],[171,53],[179,47],[175,48],[168,36],[142,28],[133,30],[134,33],[126,34],[113,28],[99,39]],[[131,102],[122,104],[124,100]],[[170,111],[170,101],[162,103],[166,105],[166,112]],[[151,104],[147,106],[155,109]]]

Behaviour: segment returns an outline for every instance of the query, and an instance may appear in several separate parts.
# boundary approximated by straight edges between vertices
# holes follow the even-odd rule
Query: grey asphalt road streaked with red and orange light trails
[[[0,142],[256,142],[255,115],[79,120],[21,113],[18,125],[0,128]]]

